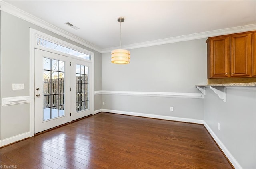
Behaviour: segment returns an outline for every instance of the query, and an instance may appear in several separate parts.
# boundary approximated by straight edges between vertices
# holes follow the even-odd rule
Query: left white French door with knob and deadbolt
[[[35,49],[35,133],[70,122],[70,58]]]

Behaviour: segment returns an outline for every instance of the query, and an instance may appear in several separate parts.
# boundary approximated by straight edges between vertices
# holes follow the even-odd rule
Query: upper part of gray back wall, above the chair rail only
[[[102,90],[192,92],[207,83],[206,39],[131,49],[127,65],[102,54]]]

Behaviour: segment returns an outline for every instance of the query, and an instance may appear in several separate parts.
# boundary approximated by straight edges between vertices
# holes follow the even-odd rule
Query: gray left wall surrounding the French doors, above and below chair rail
[[[40,28],[1,11],[1,99],[2,97],[28,96],[30,76],[30,29],[47,33],[48,35],[67,41],[94,52],[95,57],[95,90],[101,90],[101,53],[60,35]],[[12,90],[12,83],[24,83],[24,90]],[[101,103],[101,98],[95,98],[95,105]],[[9,138],[29,132],[29,104],[1,106],[0,139]],[[22,119],[22,120],[21,120]]]

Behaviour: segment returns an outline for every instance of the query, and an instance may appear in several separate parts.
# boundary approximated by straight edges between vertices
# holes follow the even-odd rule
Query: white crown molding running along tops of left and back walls
[[[68,33],[67,31],[64,31],[52,24],[49,24],[48,22],[45,22],[44,20],[41,20],[40,18],[37,18],[31,14],[28,14],[27,12],[24,12],[23,10],[20,10],[19,8],[16,8],[15,6],[12,6],[2,0],[0,0],[0,10],[7,12],[9,14],[12,14],[14,16],[17,16],[18,18],[21,18],[28,22],[31,22],[32,24],[40,26],[44,29],[52,31],[53,33],[56,33],[63,37],[66,37],[74,42],[77,42],[81,45],[89,47],[90,49],[93,49],[100,53],[108,53],[114,49],[119,48],[119,46],[116,46],[116,47],[101,49],[100,47],[97,47],[96,45],[94,45],[88,41],[85,41],[71,33]],[[182,36],[170,37],[170,38],[165,38],[165,39],[158,39],[158,40],[154,40],[154,41],[146,41],[146,42],[142,42],[142,43],[134,43],[134,44],[130,44],[130,45],[123,45],[122,47],[124,49],[136,49],[136,48],[141,48],[141,47],[164,45],[164,44],[168,44],[168,43],[176,43],[176,42],[180,42],[180,41],[202,39],[202,38],[208,38],[208,37],[212,37],[212,36],[226,35],[226,34],[231,34],[231,33],[239,33],[239,32],[252,31],[252,30],[256,30],[256,24],[236,26],[236,27],[232,27],[232,28],[218,29],[218,30],[214,30],[214,31],[206,31],[206,32],[201,32],[201,33],[193,33],[193,34],[189,34],[189,35],[182,35]]]

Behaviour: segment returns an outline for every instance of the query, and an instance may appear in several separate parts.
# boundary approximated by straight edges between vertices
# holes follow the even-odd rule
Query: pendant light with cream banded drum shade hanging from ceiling
[[[122,31],[121,23],[124,22],[124,17],[117,18],[120,22],[120,49],[111,51],[111,62],[116,64],[127,64],[130,63],[130,51],[122,49]]]

